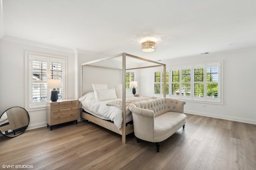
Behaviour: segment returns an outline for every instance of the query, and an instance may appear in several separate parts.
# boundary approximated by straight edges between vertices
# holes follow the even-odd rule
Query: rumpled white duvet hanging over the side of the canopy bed
[[[89,92],[79,98],[82,108],[92,115],[105,120],[114,121],[114,124],[120,129],[122,127],[122,110],[116,106],[107,106],[112,100],[96,101],[94,92]],[[132,120],[128,106],[126,106],[126,123]]]

